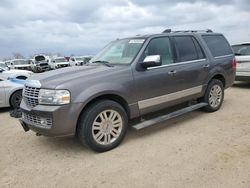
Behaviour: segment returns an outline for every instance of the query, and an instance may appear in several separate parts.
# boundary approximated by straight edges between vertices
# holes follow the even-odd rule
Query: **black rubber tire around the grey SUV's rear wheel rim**
[[[218,85],[221,87],[221,91],[222,91],[222,98],[221,98],[221,102],[219,104],[219,106],[217,106],[216,108],[212,107],[209,103],[209,95],[210,95],[210,92],[211,92],[211,89],[214,85]],[[211,82],[209,82],[208,84],[208,87],[206,89],[206,92],[205,92],[205,95],[202,99],[203,102],[206,102],[208,103],[208,105],[204,108],[206,111],[208,112],[215,112],[217,110],[220,109],[222,103],[223,103],[223,100],[224,100],[224,86],[223,86],[223,83],[220,81],[220,80],[217,80],[217,79],[213,79],[211,80]]]

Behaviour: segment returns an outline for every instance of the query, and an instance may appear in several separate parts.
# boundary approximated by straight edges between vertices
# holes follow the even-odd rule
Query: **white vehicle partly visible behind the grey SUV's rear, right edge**
[[[236,81],[250,81],[250,43],[233,45],[237,60]]]

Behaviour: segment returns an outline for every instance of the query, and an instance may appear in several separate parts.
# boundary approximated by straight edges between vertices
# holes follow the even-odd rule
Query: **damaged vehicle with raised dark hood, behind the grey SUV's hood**
[[[45,55],[35,55],[32,59],[32,71],[39,73],[50,70],[49,66],[50,58]]]

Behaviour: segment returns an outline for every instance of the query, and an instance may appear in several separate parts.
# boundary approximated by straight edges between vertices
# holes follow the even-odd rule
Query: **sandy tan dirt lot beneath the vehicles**
[[[250,84],[216,113],[195,111],[97,154],[73,138],[25,133],[0,111],[0,187],[250,187]]]

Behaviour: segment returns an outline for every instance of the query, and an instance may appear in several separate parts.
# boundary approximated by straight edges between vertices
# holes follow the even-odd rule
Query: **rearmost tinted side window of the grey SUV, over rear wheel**
[[[223,35],[203,35],[209,50],[214,57],[231,55],[232,49]]]

